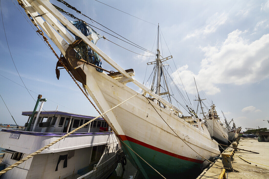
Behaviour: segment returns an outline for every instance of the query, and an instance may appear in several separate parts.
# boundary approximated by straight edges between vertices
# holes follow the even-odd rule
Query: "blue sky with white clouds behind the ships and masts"
[[[62,3],[50,2],[108,32]],[[94,0],[66,2],[152,52],[156,52],[157,25],[154,24],[159,23],[162,56],[173,56],[166,61],[171,78],[182,80],[184,87],[181,81],[176,85],[185,88],[195,110],[197,102],[193,99],[196,99],[197,92],[194,91],[193,77],[201,98],[207,99],[205,106],[208,108],[213,102],[221,119],[222,110],[228,121],[233,118],[243,129],[269,128],[268,122],[263,121],[269,119],[269,1],[101,1],[147,22]],[[1,22],[0,94],[16,122],[19,125],[27,122],[27,117],[21,113],[33,110],[38,94],[48,99],[44,110],[55,110],[59,105],[59,111],[96,116],[98,113],[64,70],[57,80],[57,59],[36,29],[30,26],[17,2],[2,1],[1,8],[10,53],[29,89],[28,92],[24,88],[12,62]],[[150,55],[101,30],[94,30],[133,52]],[[60,55],[52,41],[49,42]],[[141,83],[150,76],[153,67],[146,63],[154,61],[154,57],[137,55],[103,39],[97,42],[97,46],[123,69],[134,69],[134,78]],[[104,60],[102,62],[102,67],[113,70]],[[135,85],[128,85],[139,91]],[[171,90],[176,92],[175,87]],[[174,97],[184,103],[179,94],[174,93]],[[14,124],[1,100],[0,123]]]

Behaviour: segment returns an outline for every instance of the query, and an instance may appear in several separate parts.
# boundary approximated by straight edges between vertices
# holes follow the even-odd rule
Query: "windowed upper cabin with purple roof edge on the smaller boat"
[[[32,115],[32,111],[24,111],[22,112],[22,115],[29,116],[27,123],[25,123],[25,127],[27,127]],[[62,111],[42,111],[38,117],[37,123],[36,117],[37,112],[34,115],[31,123],[30,131],[41,133],[69,133],[70,131],[95,118],[94,116],[86,116]],[[34,127],[35,123],[36,126]],[[103,118],[98,118],[76,132],[106,132],[109,130],[108,128],[109,126],[107,122]]]

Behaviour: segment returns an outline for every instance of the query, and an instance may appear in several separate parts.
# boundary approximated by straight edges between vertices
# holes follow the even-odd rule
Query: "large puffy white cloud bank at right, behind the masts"
[[[245,32],[235,30],[221,45],[201,47],[205,58],[197,74],[187,65],[178,68],[188,92],[193,93],[193,77],[211,95],[220,92],[218,84],[251,84],[269,77],[269,34],[249,42],[242,37]],[[179,78],[178,73],[173,76]]]

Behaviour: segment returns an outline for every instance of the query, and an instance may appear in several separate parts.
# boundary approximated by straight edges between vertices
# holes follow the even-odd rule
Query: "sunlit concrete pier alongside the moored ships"
[[[239,144],[237,147],[248,151],[258,152],[259,154],[242,151],[240,149],[238,149],[238,151],[235,151],[235,155],[233,155],[234,160],[232,161],[232,168],[235,169],[236,172],[226,170],[225,172],[226,177],[228,172],[227,177],[228,179],[229,178],[269,179],[269,167],[267,167],[269,166],[269,143],[258,142],[257,139],[241,138],[239,140]],[[242,157],[245,160],[249,160],[251,164],[243,161],[236,155]],[[215,163],[219,166],[223,166],[221,159],[216,160]],[[214,164],[211,164],[207,169],[205,169],[200,174],[200,176],[197,177],[197,179],[218,178],[222,169],[223,169],[222,167],[218,167]]]

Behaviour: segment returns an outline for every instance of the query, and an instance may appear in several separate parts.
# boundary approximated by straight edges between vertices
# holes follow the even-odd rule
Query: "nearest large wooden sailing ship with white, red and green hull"
[[[60,49],[63,54],[62,61],[75,79],[83,84],[102,113],[137,94],[135,90],[126,86],[127,83],[133,83],[143,91],[142,94],[105,114],[104,118],[115,131],[130,161],[145,178],[160,178],[160,174],[166,178],[179,175],[182,178],[196,176],[205,159],[220,155],[215,140],[201,128],[194,127],[182,119],[181,110],[161,97],[160,73],[165,59],[161,59],[159,49],[154,62],[158,68],[157,90],[152,91],[133,77],[135,73],[132,69],[123,70],[102,52],[93,43],[92,34],[86,37],[48,0],[21,2],[27,10],[26,13],[34,17],[35,22]],[[78,40],[75,40],[66,28]],[[89,45],[118,72],[111,73],[83,58],[78,59],[76,50],[80,43]],[[200,120],[197,122],[200,125]]]

